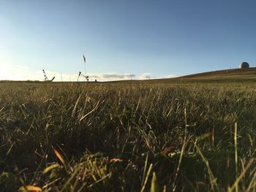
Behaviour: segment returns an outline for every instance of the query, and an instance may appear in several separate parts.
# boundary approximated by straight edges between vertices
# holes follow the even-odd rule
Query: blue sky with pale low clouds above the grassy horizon
[[[255,0],[0,0],[0,80],[172,77],[256,66]]]

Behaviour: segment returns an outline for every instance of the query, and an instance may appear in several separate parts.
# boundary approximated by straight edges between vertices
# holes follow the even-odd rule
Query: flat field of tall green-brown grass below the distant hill
[[[256,84],[0,83],[2,191],[256,191]]]

